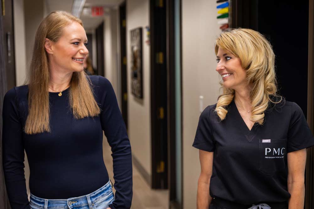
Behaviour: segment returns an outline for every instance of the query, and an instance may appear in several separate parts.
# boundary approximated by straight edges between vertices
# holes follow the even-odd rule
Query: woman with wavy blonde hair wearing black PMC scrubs
[[[314,138],[301,108],[276,94],[271,45],[254,30],[232,29],[215,53],[223,94],[202,112],[193,143],[197,208],[303,209]]]

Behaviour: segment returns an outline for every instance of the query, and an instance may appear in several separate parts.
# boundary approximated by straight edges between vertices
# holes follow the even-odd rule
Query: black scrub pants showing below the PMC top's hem
[[[252,205],[242,205],[236,202],[231,202],[228,200],[224,200],[218,197],[213,198],[213,203],[217,206],[220,207],[225,207],[228,209],[248,209],[250,207],[252,207]],[[264,203],[264,202],[262,202]],[[266,204],[268,204],[271,209],[284,209],[286,207],[288,207],[288,203],[287,201],[284,202],[265,202]],[[258,203],[256,203],[257,205]]]

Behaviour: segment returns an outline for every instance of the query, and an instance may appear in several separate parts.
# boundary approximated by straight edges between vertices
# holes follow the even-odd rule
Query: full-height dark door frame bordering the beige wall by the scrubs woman
[[[182,192],[182,186],[183,186],[183,173],[182,169],[177,170],[176,169],[176,163],[177,163],[177,146],[176,146],[176,126],[177,123],[181,126],[181,132],[182,132],[182,121],[177,121],[177,115],[176,115],[176,102],[180,103],[180,106],[182,107],[182,101],[176,101],[176,86],[177,86],[177,81],[176,81],[176,55],[177,53],[180,54],[180,63],[182,63],[181,60],[181,47],[180,51],[176,51],[176,30],[175,30],[175,15],[176,15],[176,6],[175,5],[175,0],[169,0],[166,1],[166,27],[167,27],[167,109],[168,109],[168,189],[169,189],[169,201],[170,201],[170,208],[175,208],[175,209],[181,209],[183,208],[182,203],[177,200],[177,179],[176,179],[176,174],[177,172],[181,173],[181,200],[183,196]],[[178,0],[179,2],[179,16],[180,16],[180,44],[181,44],[181,0]],[[181,66],[181,64],[180,64]],[[181,68],[180,68],[181,71]],[[180,73],[180,80],[182,81],[181,78],[181,73]],[[180,84],[182,82],[180,81]],[[182,86],[181,88],[182,89]],[[181,91],[181,97],[182,98],[182,91]],[[182,115],[182,108],[181,108],[181,113]],[[181,133],[182,135],[182,133]],[[182,138],[181,138],[181,144],[182,144]],[[182,150],[181,150],[181,168],[182,168]]]

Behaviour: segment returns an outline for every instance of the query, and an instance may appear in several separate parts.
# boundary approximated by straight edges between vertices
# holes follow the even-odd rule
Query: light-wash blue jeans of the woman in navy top
[[[110,181],[98,190],[69,199],[42,199],[30,194],[31,209],[106,209],[115,200]]]

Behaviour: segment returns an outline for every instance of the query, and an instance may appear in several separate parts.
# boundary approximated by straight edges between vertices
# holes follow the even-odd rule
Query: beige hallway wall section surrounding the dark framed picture
[[[149,25],[149,1],[127,1],[127,88],[128,88],[128,134],[133,156],[151,175],[151,131],[150,131],[150,49],[145,43],[145,26]],[[143,28],[143,99],[131,93],[131,46],[130,30]]]

